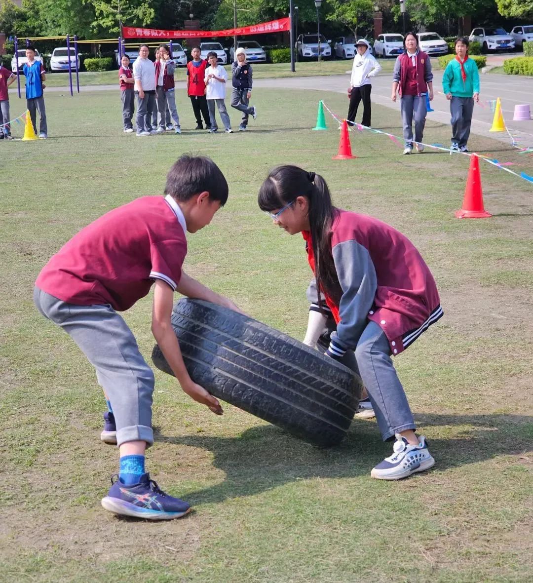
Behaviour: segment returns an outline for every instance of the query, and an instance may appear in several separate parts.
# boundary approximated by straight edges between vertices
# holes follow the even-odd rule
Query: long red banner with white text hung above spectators
[[[215,36],[243,36],[244,34],[267,34],[290,30],[290,18],[279,18],[270,22],[241,26],[227,30],[159,30],[142,29],[136,26],[122,27],[124,38],[208,38]]]

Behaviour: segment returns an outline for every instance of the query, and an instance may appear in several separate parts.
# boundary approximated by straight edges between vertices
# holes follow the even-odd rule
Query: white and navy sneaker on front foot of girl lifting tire
[[[405,437],[396,434],[394,453],[370,472],[370,476],[378,480],[401,480],[415,472],[423,472],[431,468],[435,460],[427,449],[426,438],[418,438],[419,445],[410,445]]]

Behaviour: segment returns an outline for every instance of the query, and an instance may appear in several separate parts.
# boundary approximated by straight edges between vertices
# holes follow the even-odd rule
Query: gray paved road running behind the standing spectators
[[[346,62],[345,75],[318,76],[318,77],[296,77],[280,79],[254,79],[254,87],[268,87],[279,89],[310,89],[317,91],[333,91],[346,93],[350,80],[350,61]],[[442,92],[442,72],[434,73],[433,87],[435,99],[432,101],[434,113],[429,113],[430,120],[436,120],[443,124],[450,124],[450,106],[446,97],[438,92]],[[177,90],[185,90],[185,83],[176,83]],[[87,85],[80,87],[83,93],[96,91],[117,90],[116,85]],[[68,87],[47,87],[47,92],[68,93]],[[503,117],[507,127],[520,131],[520,135],[531,138],[526,146],[533,146],[533,120],[513,121],[514,106],[521,103],[531,104],[533,111],[533,79],[527,77],[514,77],[509,75],[481,75],[481,98],[489,101],[500,97],[502,100]],[[372,83],[371,100],[381,106],[391,107],[398,111],[399,121],[399,100],[397,103],[391,101],[391,73],[383,73],[374,78]],[[348,112],[348,98],[346,98],[346,112],[339,111],[338,114]],[[472,120],[472,132],[479,135],[490,136],[502,142],[509,142],[507,133],[489,133],[492,125],[493,113],[490,107],[476,105],[474,108],[474,119]]]

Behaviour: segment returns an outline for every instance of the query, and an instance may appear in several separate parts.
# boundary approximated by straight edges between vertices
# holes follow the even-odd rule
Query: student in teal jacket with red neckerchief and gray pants
[[[450,100],[451,150],[468,152],[467,142],[472,123],[474,101],[479,101],[478,65],[468,58],[468,38],[455,41],[455,59],[452,59],[443,75],[443,90]]]

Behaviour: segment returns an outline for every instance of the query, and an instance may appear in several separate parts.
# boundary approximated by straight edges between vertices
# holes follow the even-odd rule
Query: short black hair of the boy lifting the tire
[[[183,154],[170,168],[164,194],[170,194],[176,201],[185,202],[200,192],[209,192],[209,198],[227,201],[227,181],[220,168],[207,156]]]

